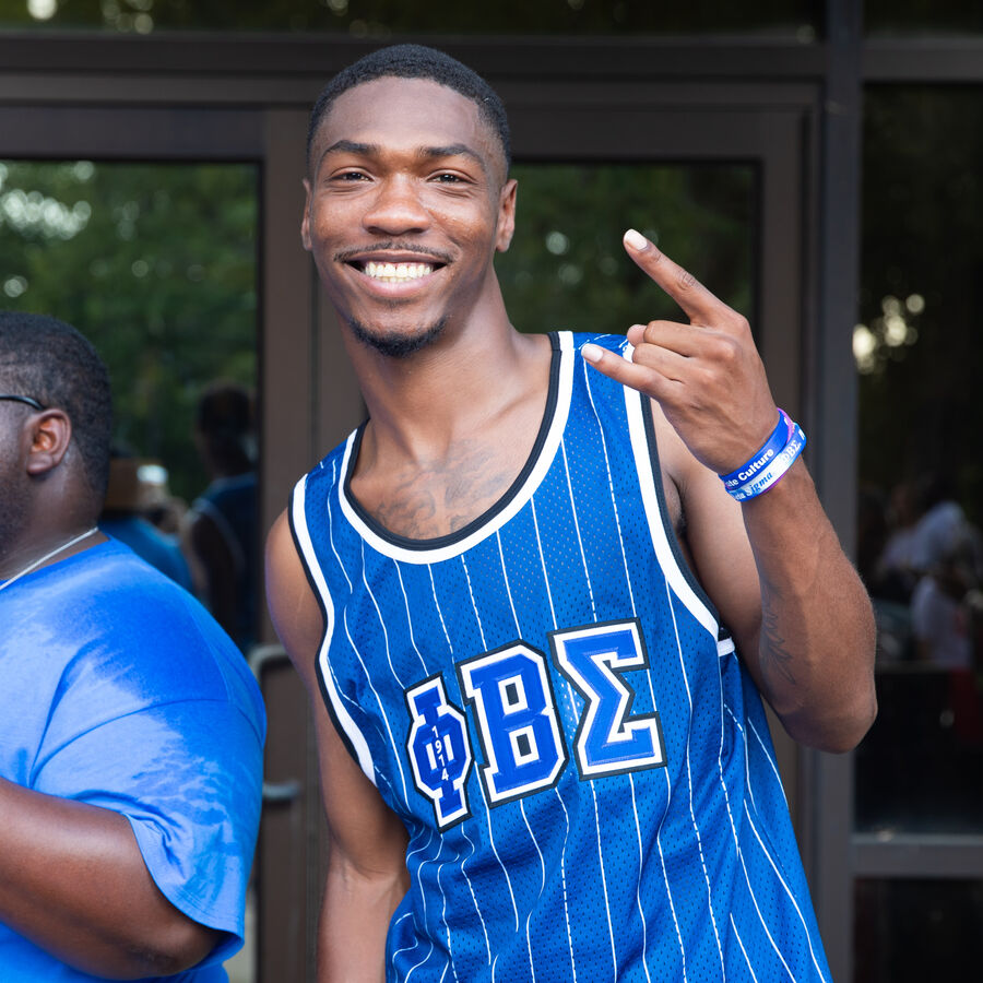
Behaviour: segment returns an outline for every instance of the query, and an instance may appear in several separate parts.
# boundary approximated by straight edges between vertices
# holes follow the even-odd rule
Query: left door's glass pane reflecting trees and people
[[[257,181],[238,164],[0,162],[0,300],[71,322],[109,367],[106,529],[193,587],[244,650],[258,593],[254,497],[249,514],[220,517],[246,530],[241,543],[226,548],[215,533],[203,554],[190,532],[225,507],[215,483],[241,483],[254,465]],[[203,426],[200,401],[217,380],[248,393],[235,454]],[[221,578],[209,575],[213,555]],[[245,612],[223,604],[220,583]]]

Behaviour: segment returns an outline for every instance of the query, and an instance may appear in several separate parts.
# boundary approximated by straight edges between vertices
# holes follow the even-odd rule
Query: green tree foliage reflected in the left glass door
[[[0,299],[82,331],[109,366],[117,441],[205,483],[193,410],[256,381],[251,165],[0,164]]]

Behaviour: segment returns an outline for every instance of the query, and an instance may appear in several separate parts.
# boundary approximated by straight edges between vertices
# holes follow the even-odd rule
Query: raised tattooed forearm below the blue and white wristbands
[[[742,511],[761,590],[759,686],[796,741],[849,750],[876,712],[866,591],[801,461]]]

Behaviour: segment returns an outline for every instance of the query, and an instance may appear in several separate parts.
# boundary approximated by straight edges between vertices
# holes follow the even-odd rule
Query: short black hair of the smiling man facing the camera
[[[379,48],[342,69],[323,88],[310,114],[307,129],[307,159],[315,137],[334,100],[344,92],[376,79],[428,79],[471,99],[482,118],[498,135],[506,174],[512,163],[509,119],[498,93],[473,69],[436,48],[424,45],[391,45]]]

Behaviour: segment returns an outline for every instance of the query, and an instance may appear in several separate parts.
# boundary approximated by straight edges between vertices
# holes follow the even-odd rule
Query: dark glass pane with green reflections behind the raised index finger
[[[628,258],[638,228],[755,323],[756,171],[746,165],[520,164],[517,232],[496,258],[520,331],[624,333],[675,304]]]

